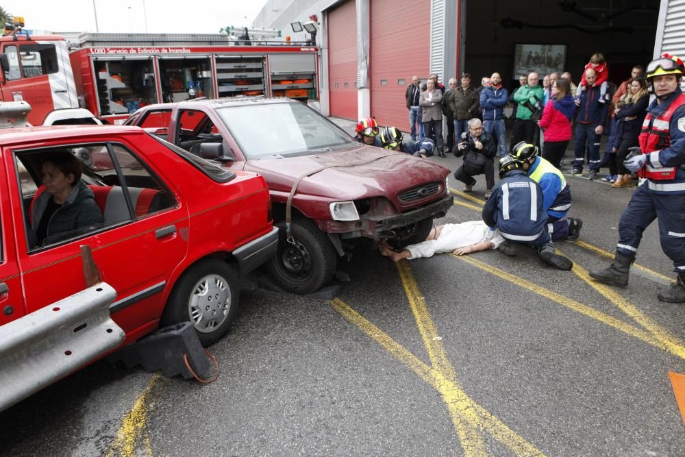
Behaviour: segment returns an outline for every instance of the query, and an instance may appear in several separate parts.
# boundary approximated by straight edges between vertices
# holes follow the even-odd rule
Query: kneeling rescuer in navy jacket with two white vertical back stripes
[[[545,224],[543,192],[523,172],[522,164],[514,156],[499,160],[499,177],[503,178],[483,207],[483,221],[506,240],[533,247],[538,256],[560,270],[570,270],[573,262],[555,254]]]

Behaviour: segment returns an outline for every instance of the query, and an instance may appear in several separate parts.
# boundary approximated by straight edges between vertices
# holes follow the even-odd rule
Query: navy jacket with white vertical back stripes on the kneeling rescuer
[[[485,203],[483,221],[509,240],[536,240],[546,230],[543,191],[523,171],[510,171]]]

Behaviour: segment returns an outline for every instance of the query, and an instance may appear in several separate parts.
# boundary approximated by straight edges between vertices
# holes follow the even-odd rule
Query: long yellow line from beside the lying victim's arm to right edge
[[[564,297],[564,295],[560,295],[556,292],[550,291],[547,288],[538,286],[537,284],[533,284],[530,281],[524,280],[521,277],[514,276],[510,273],[507,273],[506,271],[502,271],[500,269],[497,269],[495,267],[491,267],[490,265],[480,262],[479,260],[475,260],[475,258],[469,258],[469,256],[455,256],[453,254],[450,254],[454,258],[457,258],[458,260],[461,260],[462,262],[469,263],[473,265],[474,267],[477,267],[479,269],[482,269],[483,271],[487,271],[490,274],[493,274],[495,276],[501,277],[503,280],[512,282],[513,284],[516,284],[517,286],[523,287],[532,293],[536,293],[537,295],[540,295],[541,297],[545,297],[547,299],[550,299],[552,301],[556,301],[558,304],[562,306],[566,306],[566,308],[569,308],[571,310],[574,310],[575,312],[580,312],[580,314],[584,314],[587,317],[591,317],[601,323],[604,323],[606,325],[609,325],[610,327],[615,328],[616,330],[620,330],[621,332],[628,334],[630,336],[634,336],[635,338],[640,339],[641,341],[644,341],[645,343],[649,343],[653,346],[656,346],[660,349],[664,349],[664,351],[669,351],[671,354],[674,354],[671,351],[671,348],[667,345],[664,345],[662,341],[659,341],[657,338],[649,334],[648,332],[645,332],[644,330],[640,330],[639,328],[636,328],[628,323],[625,323],[623,321],[619,321],[619,319],[616,319],[615,317],[612,317],[608,314],[604,314],[603,312],[597,311],[594,308],[590,308],[590,306],[584,305],[582,303],[579,303],[578,301],[572,300],[568,297]],[[680,354],[674,354],[676,356],[680,357]]]

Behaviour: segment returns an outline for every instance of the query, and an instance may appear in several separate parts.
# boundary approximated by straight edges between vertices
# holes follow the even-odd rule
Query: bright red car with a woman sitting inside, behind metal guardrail
[[[42,186],[42,167],[55,153],[80,160],[81,180],[102,219],[71,232],[48,231],[36,244],[32,208],[50,192]],[[96,332],[92,321],[66,334],[41,330],[59,314],[55,302],[86,288],[82,245],[90,246],[103,282],[116,291],[107,313],[114,321],[107,332],[118,338],[114,347],[184,321],[192,321],[203,345],[216,342],[238,309],[238,278],[276,251],[263,177],[216,166],[138,127],[2,129],[0,170],[0,344],[24,338],[21,350],[32,349],[20,368]],[[77,301],[69,307],[77,309]],[[88,347],[99,338],[92,333],[86,338],[92,344],[77,345],[89,354],[86,363],[114,349]],[[64,354],[40,368],[42,385],[85,365],[75,348]],[[0,347],[3,390],[12,375],[7,361],[16,357]]]

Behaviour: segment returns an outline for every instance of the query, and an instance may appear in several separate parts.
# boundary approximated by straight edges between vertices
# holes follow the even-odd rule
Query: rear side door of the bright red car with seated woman
[[[31,245],[28,235],[18,237],[23,238],[18,249],[25,253],[21,268],[30,311],[85,287],[80,246],[90,246],[102,280],[117,292],[110,307],[114,321],[129,338],[138,338],[157,325],[169,277],[186,256],[188,210],[141,153],[158,143],[142,133],[136,135],[136,146],[122,140],[15,151],[34,176],[51,153],[77,156],[84,169],[82,180],[103,214],[102,223],[48,236],[41,245]],[[27,223],[29,219],[27,214]]]

